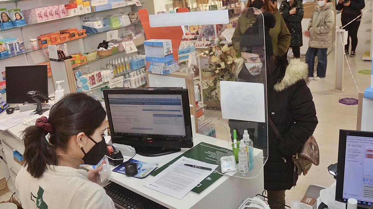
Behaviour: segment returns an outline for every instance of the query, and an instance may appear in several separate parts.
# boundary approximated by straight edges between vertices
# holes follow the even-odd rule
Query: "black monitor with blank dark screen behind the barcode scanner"
[[[28,91],[40,91],[48,95],[47,65],[5,67],[6,102],[8,104],[36,103]],[[42,103],[48,100],[41,99]]]

